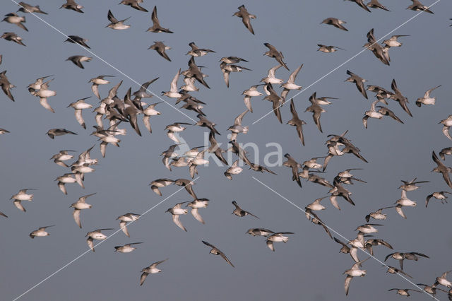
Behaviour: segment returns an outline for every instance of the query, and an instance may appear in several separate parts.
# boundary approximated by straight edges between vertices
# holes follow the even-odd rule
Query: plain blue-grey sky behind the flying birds
[[[431,4],[424,0],[425,5]],[[194,97],[206,102],[203,111],[208,119],[216,124],[221,136],[217,136],[222,147],[226,148],[227,127],[234,118],[245,110],[243,90],[255,85],[265,77],[268,69],[275,66],[274,59],[264,57],[264,42],[283,52],[285,62],[293,71],[304,64],[297,76],[299,85],[306,87],[326,73],[355,56],[367,42],[366,34],[374,28],[377,39],[386,35],[417,12],[406,10],[410,1],[385,1],[391,12],[372,10],[371,13],[349,1],[246,1],[246,8],[257,18],[252,20],[256,35],[251,35],[242,20],[232,17],[241,2],[231,1],[149,1],[142,4],[149,13],[136,11],[129,6],[119,6],[117,1],[78,0],[85,13],[58,9],[64,1],[37,2],[43,11],[38,15],[49,25],[66,35],[79,35],[88,39],[93,53],[107,61],[86,52],[78,45],[64,43],[64,35],[49,25],[26,14],[25,32],[16,25],[0,23],[1,32],[15,32],[23,37],[27,47],[6,40],[0,41],[0,54],[3,54],[1,71],[7,70],[9,81],[16,85],[12,93],[16,102],[11,102],[1,94],[0,127],[11,134],[0,136],[1,182],[0,211],[9,218],[0,219],[2,243],[0,244],[0,290],[2,299],[13,300],[33,285],[68,264],[88,249],[85,234],[97,228],[115,228],[119,225],[118,216],[124,213],[143,213],[174,193],[180,187],[174,185],[163,188],[163,196],[157,196],[148,184],[154,179],[189,178],[188,167],[174,168],[169,172],[162,165],[162,151],[173,144],[165,134],[165,126],[173,122],[191,122],[174,108],[161,103],[157,110],[160,116],[151,117],[153,134],[145,131],[139,122],[142,137],[137,136],[129,124],[122,124],[128,134],[119,136],[120,147],[107,146],[106,158],[102,158],[96,138],[90,136],[95,119],[90,110],[83,116],[87,124],[84,130],[73,116],[73,109],[66,108],[71,102],[92,96],[86,100],[97,107],[88,81],[98,75],[112,75],[112,83],[100,87],[102,98],[107,96],[112,85],[124,80],[118,96],[123,97],[131,86],[138,89],[138,83],[160,77],[150,85],[150,90],[160,95],[169,90],[174,74],[186,69],[189,56],[189,42],[199,47],[215,50],[205,57],[196,58],[196,64],[206,66],[204,73],[210,90],[199,83]],[[150,12],[157,5],[158,17],[163,27],[174,34],[146,33],[152,23]],[[363,163],[353,155],[333,158],[328,165],[326,177],[333,182],[335,175],[347,168],[363,168],[355,171],[356,177],[367,184],[355,183],[346,188],[352,191],[356,206],[340,200],[341,211],[333,208],[328,199],[324,202],[326,211],[319,213],[321,219],[331,228],[349,239],[355,238],[358,225],[365,223],[364,216],[384,206],[391,206],[400,199],[400,179],[417,177],[430,181],[421,189],[408,193],[417,201],[417,207],[404,209],[408,216],[404,220],[395,210],[390,209],[384,226],[375,237],[392,244],[394,250],[376,247],[375,256],[383,261],[391,252],[421,252],[430,259],[405,261],[404,269],[414,277],[414,283],[432,284],[436,276],[451,270],[452,235],[451,204],[442,205],[432,200],[424,207],[425,197],[433,191],[450,191],[441,175],[431,173],[436,165],[432,161],[432,151],[438,153],[451,146],[451,141],[441,132],[441,119],[452,114],[450,96],[451,71],[451,21],[450,1],[439,1],[432,7],[434,15],[422,13],[406,23],[393,35],[401,37],[403,47],[391,48],[391,66],[385,66],[373,54],[365,51],[341,66],[323,80],[294,99],[299,117],[307,122],[304,126],[306,146],[302,146],[295,128],[285,123],[291,118],[289,105],[281,108],[283,124],[279,124],[274,114],[251,125],[263,114],[271,110],[270,102],[261,98],[251,100],[254,113],[246,114],[244,125],[249,125],[248,134],[240,134],[242,143],[254,142],[259,146],[261,158],[275,148],[266,148],[266,143],[279,143],[283,153],[290,153],[302,163],[311,157],[326,155],[324,145],[328,134],[341,134],[349,130],[347,138],[352,140],[369,163]],[[17,11],[18,6],[10,0],[1,6],[3,14]],[[107,11],[131,25],[129,30],[105,28],[109,23]],[[23,13],[20,13],[23,15]],[[320,25],[324,18],[335,17],[347,21],[348,32]],[[166,61],[155,51],[147,48],[153,41],[164,41],[172,47],[167,54],[172,61]],[[317,44],[334,45],[346,49],[332,54],[316,52]],[[70,61],[72,55],[93,57],[79,69]],[[252,71],[232,73],[230,88],[227,88],[219,68],[221,57],[237,56],[249,61],[241,63]],[[111,66],[109,66],[111,65]],[[114,66],[117,70],[112,68]],[[388,117],[382,120],[369,119],[369,128],[364,129],[362,116],[369,110],[373,93],[366,100],[357,91],[354,83],[345,83],[346,70],[367,79],[367,84],[391,88],[396,78],[398,88],[410,101],[413,117],[403,112],[400,106],[390,100],[389,108],[405,124],[399,124]],[[278,78],[285,81],[291,71],[279,69]],[[28,93],[27,85],[36,78],[53,74],[50,89],[57,95],[49,98],[55,114],[44,110],[38,98]],[[131,79],[133,81],[131,81]],[[182,81],[179,81],[179,85]],[[436,105],[415,106],[415,100],[436,85],[441,88],[432,93]],[[277,87],[275,87],[277,88]],[[278,89],[278,91],[280,91]],[[325,107],[321,124],[323,134],[314,124],[310,113],[303,113],[309,95],[339,98]],[[290,96],[295,95],[292,91]],[[165,98],[174,105],[174,100]],[[145,100],[160,101],[158,98]],[[177,105],[180,107],[180,105]],[[196,120],[196,113],[184,111]],[[105,123],[107,124],[107,122]],[[56,137],[45,135],[52,128],[65,128],[78,135]],[[182,134],[189,146],[204,143],[204,128],[189,126]],[[55,165],[49,158],[59,150],[76,150],[77,154],[96,144],[91,152],[92,158],[100,159],[94,166],[95,172],[85,175],[85,189],[77,184],[66,185],[68,195],[59,191],[58,176],[67,169]],[[251,151],[251,150],[250,150]],[[253,160],[252,153],[250,154]],[[262,164],[262,163],[261,163]],[[452,159],[446,159],[452,165]],[[59,271],[55,276],[31,290],[20,300],[396,300],[391,288],[415,288],[397,275],[386,273],[379,262],[369,259],[363,268],[367,270],[364,278],[355,278],[350,286],[350,294],[345,297],[343,271],[353,264],[347,254],[339,254],[340,245],[330,240],[323,229],[309,223],[304,213],[292,204],[274,194],[252,177],[271,187],[300,208],[321,196],[328,189],[317,184],[305,182],[300,189],[292,182],[287,167],[270,168],[278,175],[261,174],[244,167],[242,174],[230,181],[223,172],[227,167],[211,164],[198,167],[199,179],[194,189],[198,197],[210,199],[208,208],[200,209],[206,225],[198,223],[191,215],[182,216],[187,232],[177,228],[167,208],[175,203],[191,201],[191,196],[182,190],[164,203],[142,216],[129,226],[131,238],[118,232],[78,260]],[[18,211],[8,199],[19,189],[35,188],[32,202],[25,202],[27,212]],[[72,218],[71,203],[84,194],[97,193],[87,202],[93,205],[82,211],[83,228],[79,229]],[[231,215],[232,200],[242,208],[251,211],[259,219]],[[49,228],[49,237],[31,240],[28,234],[40,226],[56,225]],[[275,252],[266,247],[265,238],[245,234],[249,228],[268,228],[275,232],[295,232],[287,244],[276,243]],[[113,230],[106,231],[107,235]],[[335,235],[337,236],[337,235]],[[213,256],[209,248],[201,243],[206,240],[215,244],[229,257],[235,268],[229,266],[220,256]],[[130,242],[143,242],[138,249],[129,254],[114,252],[114,246]],[[169,258],[159,268],[162,273],[148,276],[143,287],[139,286],[141,269],[155,261]],[[359,258],[366,255],[359,252]],[[387,264],[398,266],[394,259]],[[424,300],[428,296],[412,293],[412,300]],[[444,293],[439,300],[446,300]]]

